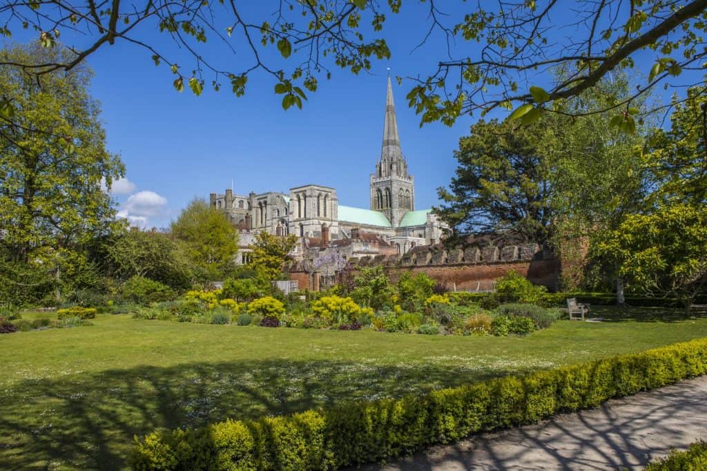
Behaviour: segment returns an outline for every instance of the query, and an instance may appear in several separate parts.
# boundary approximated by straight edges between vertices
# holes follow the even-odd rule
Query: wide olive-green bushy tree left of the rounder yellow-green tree
[[[132,228],[114,236],[105,252],[110,265],[107,272],[121,279],[146,277],[185,289],[194,276],[185,244],[168,234]]]

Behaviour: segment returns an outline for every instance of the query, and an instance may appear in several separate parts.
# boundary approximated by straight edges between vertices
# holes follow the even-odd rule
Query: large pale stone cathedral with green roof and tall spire
[[[415,180],[400,146],[390,77],[382,149],[370,175],[370,208],[339,204],[337,190],[323,185],[247,195],[228,189],[211,193],[209,200],[240,231],[238,263],[247,262],[247,246],[260,231],[296,234],[301,244],[293,255],[302,260],[313,247],[336,248],[347,256],[402,255],[417,245],[439,243],[448,228],[431,209],[415,210]]]

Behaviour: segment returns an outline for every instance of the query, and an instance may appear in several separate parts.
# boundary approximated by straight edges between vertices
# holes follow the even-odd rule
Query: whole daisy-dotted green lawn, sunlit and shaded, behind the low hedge
[[[399,396],[707,337],[706,318],[595,315],[621,322],[563,320],[496,338],[98,315],[90,327],[0,335],[0,469],[115,469],[134,435],[158,427]]]

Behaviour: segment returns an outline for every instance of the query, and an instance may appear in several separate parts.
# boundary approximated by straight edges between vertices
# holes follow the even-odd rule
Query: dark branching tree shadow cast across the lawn
[[[133,436],[160,427],[399,397],[511,372],[517,371],[271,359],[25,380],[0,391],[0,468],[120,469]]]

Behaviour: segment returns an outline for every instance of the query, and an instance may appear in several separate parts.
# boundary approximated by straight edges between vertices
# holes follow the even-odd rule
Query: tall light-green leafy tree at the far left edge
[[[65,54],[17,46],[0,51],[0,62],[59,60]],[[0,120],[0,245],[9,261],[52,274],[57,298],[62,272],[89,269],[83,247],[120,225],[101,184],[110,185],[124,168],[105,149],[100,108],[87,91],[90,77],[90,70],[77,66],[37,81],[0,66],[0,90],[14,104],[13,121]]]

